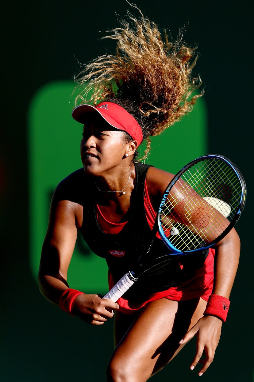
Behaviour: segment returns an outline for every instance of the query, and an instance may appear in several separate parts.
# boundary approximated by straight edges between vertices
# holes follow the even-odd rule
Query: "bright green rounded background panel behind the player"
[[[30,262],[35,278],[48,223],[50,196],[59,181],[82,166],[79,154],[82,125],[71,116],[73,87],[71,81],[46,84],[34,95],[29,107]],[[206,142],[206,105],[201,98],[189,115],[152,138],[152,150],[146,163],[176,173],[194,156],[206,154]],[[143,151],[144,144],[140,153]],[[107,290],[107,265],[82,243],[80,234],[68,271],[68,283],[88,293]]]

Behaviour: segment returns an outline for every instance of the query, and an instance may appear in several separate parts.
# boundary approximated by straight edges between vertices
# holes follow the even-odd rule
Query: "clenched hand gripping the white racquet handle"
[[[72,313],[92,325],[102,325],[112,318],[119,305],[98,295],[78,295],[72,303]]]

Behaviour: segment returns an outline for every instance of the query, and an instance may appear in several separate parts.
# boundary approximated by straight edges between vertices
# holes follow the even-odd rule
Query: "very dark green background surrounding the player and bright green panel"
[[[137,5],[174,38],[198,43],[196,70],[206,86],[209,150],[229,157],[241,169],[248,200],[237,224],[241,261],[231,307],[206,381],[252,379],[252,3],[148,2]],[[114,43],[98,31],[118,26],[124,0],[11,2],[2,5],[2,127],[0,151],[1,350],[0,377],[16,381],[103,381],[112,351],[112,323],[91,327],[64,314],[40,295],[29,268],[27,107],[34,93],[53,80],[70,79],[77,58],[88,62]],[[137,13],[134,13],[137,16]],[[152,380],[194,381],[189,365],[195,341]]]

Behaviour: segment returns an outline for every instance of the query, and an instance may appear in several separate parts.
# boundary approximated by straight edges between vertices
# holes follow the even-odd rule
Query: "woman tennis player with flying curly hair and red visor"
[[[118,40],[117,54],[97,58],[77,78],[84,91],[77,96],[82,104],[73,110],[73,118],[84,125],[83,168],[54,193],[40,290],[53,304],[90,324],[102,325],[115,316],[108,381],[146,381],[194,335],[197,346],[190,369],[201,363],[201,376],[214,358],[229,307],[240,253],[234,229],[195,260],[174,256],[163,273],[154,267],[117,303],[67,283],[77,230],[94,253],[106,259],[110,287],[137,259],[173,177],[137,162],[137,148],[146,139],[146,156],[149,136],[173,125],[201,95],[192,95],[201,84],[191,78],[194,49],[181,38],[172,44],[166,36],[164,43],[157,26],[142,14],[140,19],[129,17],[134,28],[122,21],[122,28],[107,36]],[[85,99],[91,89],[89,102],[94,106]],[[154,251],[163,253],[164,247],[157,238]]]

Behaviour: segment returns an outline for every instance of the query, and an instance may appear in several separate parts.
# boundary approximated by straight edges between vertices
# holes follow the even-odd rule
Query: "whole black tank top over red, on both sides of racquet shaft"
[[[126,214],[127,223],[117,234],[104,233],[96,219],[96,189],[93,179],[89,179],[83,190],[83,223],[81,234],[89,248],[100,257],[105,258],[113,280],[117,282],[128,270],[132,270],[144,248],[151,242],[151,229],[148,225],[144,207],[144,183],[149,165],[134,163],[136,180],[131,193],[131,204]],[[154,257],[170,253],[162,240],[155,238],[152,253]],[[140,303],[152,293],[180,285],[193,277],[196,269],[201,267],[208,251],[196,252],[184,256],[173,255],[163,264],[155,265],[141,275],[136,283],[125,293],[133,303]],[[157,261],[155,261],[155,264]]]

